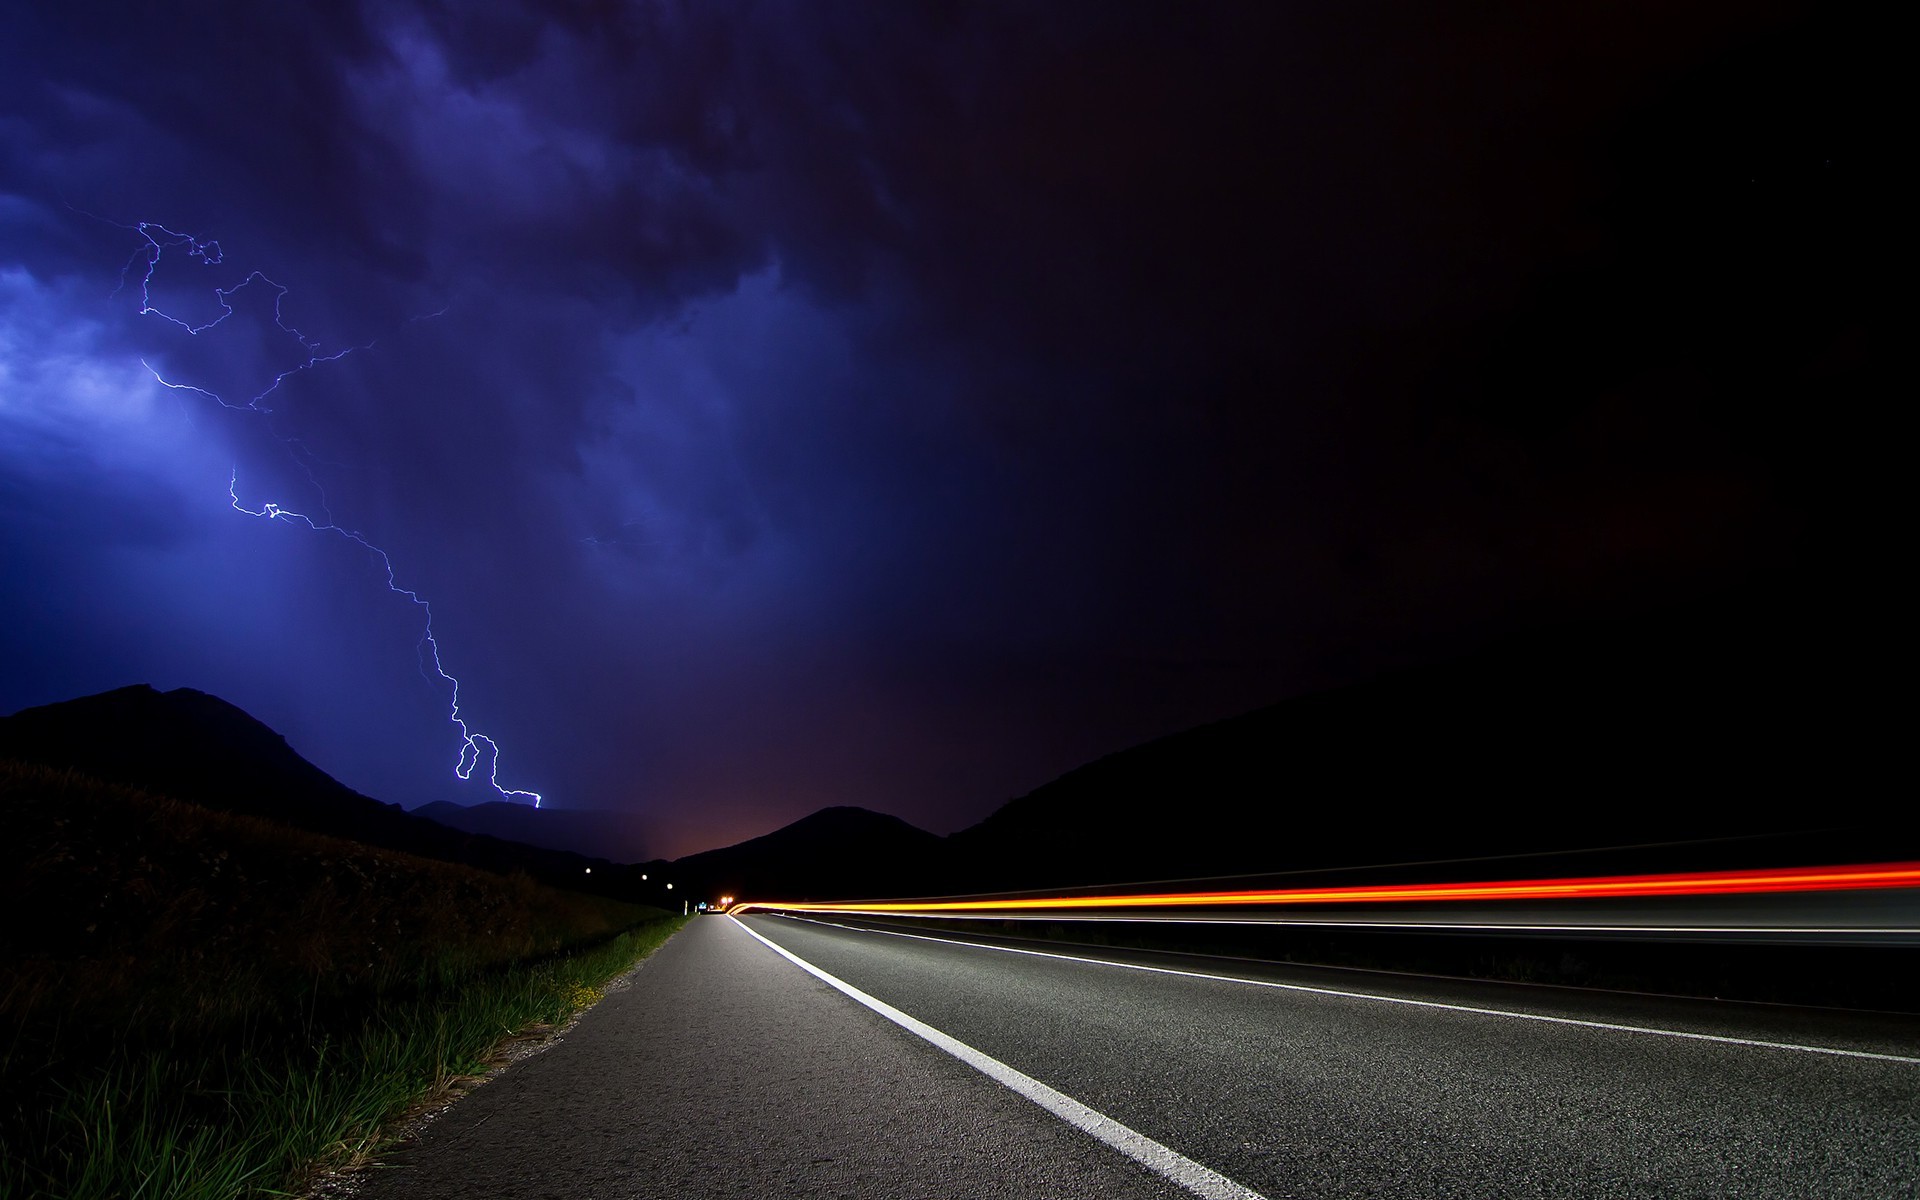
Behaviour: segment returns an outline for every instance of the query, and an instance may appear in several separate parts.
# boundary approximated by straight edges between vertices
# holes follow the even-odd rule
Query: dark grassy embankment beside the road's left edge
[[[682,925],[6,760],[0,845],[6,1198],[298,1190]]]

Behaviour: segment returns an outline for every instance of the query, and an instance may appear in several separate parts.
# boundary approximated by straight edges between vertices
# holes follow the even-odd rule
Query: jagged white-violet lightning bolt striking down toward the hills
[[[92,215],[92,213],[88,213],[88,215]],[[136,265],[144,261],[146,265],[144,265],[144,269],[140,269],[140,282],[138,282],[138,288],[140,288],[138,315],[140,317],[156,317],[156,319],[165,321],[165,323],[169,323],[169,324],[184,330],[186,334],[192,334],[192,336],[198,338],[200,334],[205,334],[207,330],[219,326],[223,321],[227,321],[228,317],[234,315],[234,307],[232,307],[232,298],[234,296],[238,296],[246,288],[261,286],[261,288],[269,288],[273,292],[273,323],[282,332],[286,332],[290,338],[294,338],[294,342],[298,342],[300,348],[305,351],[305,357],[301,361],[298,361],[296,365],[288,367],[286,371],[280,371],[278,374],[275,374],[267,382],[265,388],[261,388],[259,392],[255,392],[253,396],[250,396],[244,403],[228,401],[227,397],[219,396],[217,392],[207,390],[207,388],[200,388],[196,384],[169,380],[169,378],[161,376],[161,372],[157,369],[154,369],[152,363],[148,363],[146,359],[140,359],[140,365],[146,367],[148,374],[152,374],[154,380],[159,386],[163,386],[163,388],[171,388],[175,392],[190,392],[190,394],[202,396],[202,397],[205,397],[205,399],[221,405],[223,409],[244,411],[244,413],[259,413],[263,419],[267,419],[271,422],[273,409],[267,407],[267,399],[288,378],[292,378],[292,376],[296,376],[296,374],[300,374],[303,371],[311,371],[315,367],[326,365],[326,363],[338,363],[340,359],[348,357],[349,353],[363,351],[363,349],[372,349],[372,346],[374,346],[372,342],[365,342],[365,344],[359,344],[359,346],[348,346],[344,349],[334,349],[334,351],[323,349],[319,340],[309,338],[307,334],[303,334],[301,330],[298,330],[296,326],[292,326],[292,324],[286,323],[286,317],[282,313],[282,303],[286,301],[288,288],[284,284],[275,282],[273,278],[269,278],[267,275],[263,275],[259,271],[250,273],[246,278],[242,278],[238,284],[234,284],[230,288],[213,288],[213,300],[219,305],[221,313],[217,317],[209,319],[209,321],[194,324],[192,321],[186,321],[186,319],[175,317],[175,315],[171,315],[167,311],[161,311],[159,307],[154,305],[154,296],[152,296],[154,273],[159,269],[161,259],[169,252],[177,252],[177,253],[184,253],[190,259],[200,261],[205,267],[217,267],[219,263],[225,261],[225,253],[221,252],[221,244],[217,240],[211,240],[211,238],[209,240],[200,240],[200,238],[194,238],[192,234],[182,234],[182,232],[167,228],[165,225],[156,225],[152,221],[142,221],[138,225],[119,225],[117,221],[109,221],[109,225],[117,225],[119,228],[131,228],[131,230],[138,232],[140,238],[142,238],[142,242],[144,242],[138,250],[134,250],[132,257],[127,259],[127,265],[121,269],[121,286],[113,290],[115,296],[121,290],[125,290],[127,282],[129,282],[129,275],[132,275],[132,271],[136,269]],[[445,313],[445,309],[440,309],[436,313],[422,313],[419,317],[413,317],[411,321],[428,321],[432,317],[440,317],[442,313]],[[411,321],[409,321],[409,324],[411,324]],[[273,426],[269,424],[269,428],[273,428]],[[315,492],[321,497],[321,516],[311,516],[307,513],[296,513],[294,509],[288,509],[288,507],[282,507],[282,505],[276,505],[276,503],[271,503],[271,501],[263,501],[261,507],[257,507],[257,509],[248,507],[240,499],[240,468],[238,467],[234,467],[232,474],[227,480],[227,497],[232,503],[232,509],[236,513],[244,513],[248,516],[259,516],[263,520],[286,520],[290,524],[305,526],[307,530],[311,530],[315,534],[334,534],[338,538],[346,538],[348,541],[353,541],[355,545],[359,545],[367,553],[371,553],[378,561],[380,570],[386,576],[386,588],[388,588],[388,591],[405,597],[407,603],[411,603],[411,605],[415,605],[415,607],[420,609],[422,632],[420,632],[420,641],[417,645],[417,651],[420,655],[420,674],[422,674],[422,678],[426,676],[426,666],[432,664],[434,674],[440,680],[444,680],[445,685],[451,689],[451,701],[449,701],[449,708],[447,708],[447,720],[453,722],[453,728],[459,730],[459,735],[461,735],[461,753],[459,753],[459,758],[453,764],[455,778],[459,778],[459,780],[470,780],[472,774],[474,774],[474,770],[478,770],[480,760],[484,758],[488,762],[486,781],[493,787],[493,791],[497,791],[501,797],[505,797],[509,801],[532,801],[534,808],[540,808],[541,797],[540,797],[538,791],[524,791],[524,789],[516,789],[516,787],[505,787],[499,781],[499,743],[493,741],[492,737],[488,737],[486,733],[476,733],[472,730],[472,726],[468,726],[467,718],[461,716],[461,682],[445,668],[445,664],[440,659],[440,639],[434,637],[434,609],[432,609],[432,605],[419,591],[415,591],[411,588],[403,588],[399,584],[397,572],[394,568],[394,559],[384,549],[380,549],[378,545],[374,545],[372,541],[369,541],[357,530],[349,530],[349,528],[346,528],[346,526],[342,526],[342,524],[338,524],[334,520],[332,513],[326,507],[326,492],[324,492],[324,488],[321,488],[321,482],[313,474],[313,467],[307,461],[307,459],[311,459],[311,453],[305,449],[305,445],[298,438],[284,436],[278,430],[275,430],[275,436],[280,440],[282,445],[288,447],[290,453],[294,453],[296,447],[300,449],[300,453],[294,455],[294,461],[300,463],[301,470],[305,470],[307,480],[313,482],[313,488],[315,488]]]

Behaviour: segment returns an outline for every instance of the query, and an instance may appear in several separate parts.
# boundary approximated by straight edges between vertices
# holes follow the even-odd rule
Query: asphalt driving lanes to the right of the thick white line
[[[1910,1020],[747,924],[1273,1198],[1920,1194]]]

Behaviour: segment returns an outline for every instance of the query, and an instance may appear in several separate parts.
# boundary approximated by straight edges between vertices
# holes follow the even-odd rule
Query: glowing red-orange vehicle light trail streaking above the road
[[[1018,900],[870,900],[785,904],[741,900],[733,912],[1056,912],[1119,908],[1256,908],[1271,904],[1377,904],[1388,900],[1597,900],[1626,897],[1734,897],[1793,891],[1864,891],[1920,887],[1920,862],[1797,866],[1676,876],[1588,876],[1578,879],[1507,879],[1488,883],[1369,883],[1258,891],[1175,891],[1133,895],[1039,897]]]

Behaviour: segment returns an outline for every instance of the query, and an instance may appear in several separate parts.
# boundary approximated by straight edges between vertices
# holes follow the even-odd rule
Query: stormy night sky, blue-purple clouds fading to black
[[[0,712],[495,799],[378,561],[228,484],[662,854],[1780,580],[1872,628],[1910,132],[1832,12],[10,6]],[[221,257],[146,315],[140,223]],[[255,271],[311,349],[159,315]]]

